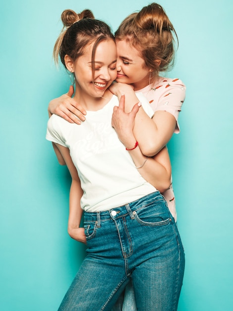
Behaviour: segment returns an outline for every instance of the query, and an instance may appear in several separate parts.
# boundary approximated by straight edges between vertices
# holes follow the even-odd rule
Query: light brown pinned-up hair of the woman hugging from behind
[[[158,3],[144,6],[140,12],[126,17],[115,33],[116,40],[126,40],[140,51],[144,68],[152,72],[152,80],[160,72],[171,70],[178,38],[165,10]]]

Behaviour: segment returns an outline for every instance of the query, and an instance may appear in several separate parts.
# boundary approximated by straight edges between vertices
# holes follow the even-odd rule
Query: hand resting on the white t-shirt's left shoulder
[[[57,114],[66,121],[76,124],[81,124],[81,121],[85,121],[84,115],[86,115],[86,111],[71,97],[73,92],[73,86],[70,85],[69,91],[66,94],[51,100],[48,107],[50,117],[52,114]]]

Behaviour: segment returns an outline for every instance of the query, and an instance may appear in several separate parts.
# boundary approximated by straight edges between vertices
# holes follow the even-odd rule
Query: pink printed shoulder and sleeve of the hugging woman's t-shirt
[[[176,120],[175,133],[179,133],[178,115],[185,99],[186,87],[178,78],[159,77],[154,83],[139,90],[147,98],[154,111],[167,111]]]

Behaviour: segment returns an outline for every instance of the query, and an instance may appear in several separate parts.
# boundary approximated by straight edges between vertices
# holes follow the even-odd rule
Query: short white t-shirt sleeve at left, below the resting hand
[[[61,146],[67,147],[65,145],[65,139],[61,134],[59,124],[60,122],[62,122],[62,119],[60,117],[58,117],[57,115],[51,116],[47,124],[46,139],[50,142],[54,142]]]

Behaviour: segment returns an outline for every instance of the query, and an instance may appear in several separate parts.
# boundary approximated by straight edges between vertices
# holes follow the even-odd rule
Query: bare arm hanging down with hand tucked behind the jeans
[[[58,148],[60,155],[63,157],[72,178],[69,193],[68,233],[75,240],[86,243],[84,228],[80,228],[80,222],[83,213],[83,210],[80,206],[80,199],[83,194],[80,179],[78,177],[76,167],[74,166],[70,157],[68,148],[58,144],[56,144],[56,147]]]

